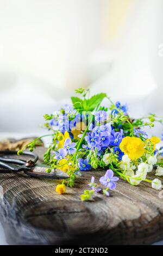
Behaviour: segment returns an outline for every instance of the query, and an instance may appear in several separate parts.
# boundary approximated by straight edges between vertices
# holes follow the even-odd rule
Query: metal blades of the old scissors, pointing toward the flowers
[[[46,179],[54,179],[54,180],[69,178],[67,173],[59,169],[52,169],[51,173],[47,173],[46,172],[47,168],[49,168],[49,166],[46,166],[44,164],[36,164],[34,167],[30,169],[27,168],[25,173],[27,173],[30,176],[46,178]]]

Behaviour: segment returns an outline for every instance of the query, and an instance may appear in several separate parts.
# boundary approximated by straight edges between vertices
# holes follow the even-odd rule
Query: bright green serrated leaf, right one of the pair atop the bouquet
[[[94,96],[92,96],[90,99],[86,100],[86,105],[87,105],[87,111],[93,111],[95,108],[97,108],[102,100],[106,97],[105,93],[99,93]]]

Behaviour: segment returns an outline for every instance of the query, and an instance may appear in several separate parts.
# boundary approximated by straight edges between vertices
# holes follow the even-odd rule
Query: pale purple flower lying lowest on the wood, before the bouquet
[[[102,176],[99,179],[99,182],[105,186],[105,187],[109,187],[110,190],[114,190],[114,188],[116,188],[116,184],[115,181],[117,181],[119,178],[117,178],[116,176],[114,176],[114,172],[112,172],[111,169],[106,170],[106,173],[104,176]]]

